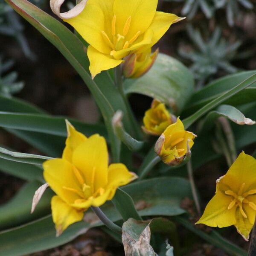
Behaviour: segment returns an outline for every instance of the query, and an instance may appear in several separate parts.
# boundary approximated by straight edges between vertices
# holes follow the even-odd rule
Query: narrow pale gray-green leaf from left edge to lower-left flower
[[[25,154],[19,152],[9,151],[6,148],[0,147],[0,158],[11,160],[19,163],[30,163],[41,166],[45,160],[51,159],[51,157],[45,157],[35,154]],[[1,161],[1,160],[0,160]]]

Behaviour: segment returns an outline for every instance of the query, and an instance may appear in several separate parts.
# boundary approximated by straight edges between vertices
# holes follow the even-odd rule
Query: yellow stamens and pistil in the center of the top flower
[[[122,35],[116,34],[116,15],[113,16],[112,19],[112,28],[111,28],[111,34],[112,34],[112,40],[109,38],[109,36],[106,34],[105,31],[102,30],[102,36],[105,40],[105,42],[111,47],[111,55],[113,55],[116,51],[120,51],[122,49],[127,49],[131,44],[134,43],[134,41],[138,38],[140,35],[140,31],[138,31],[130,40],[127,40],[126,35],[129,32],[131,25],[131,16],[128,17],[128,19],[125,22],[125,26],[122,31]]]

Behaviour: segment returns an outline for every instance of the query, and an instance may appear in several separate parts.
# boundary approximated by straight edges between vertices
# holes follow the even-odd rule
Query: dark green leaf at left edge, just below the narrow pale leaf
[[[42,168],[32,164],[18,163],[0,158],[0,171],[19,177],[23,180],[38,180],[44,182]]]

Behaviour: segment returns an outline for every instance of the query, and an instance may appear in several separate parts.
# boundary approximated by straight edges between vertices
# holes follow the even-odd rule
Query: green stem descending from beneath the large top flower
[[[140,131],[140,128],[138,127],[138,124],[135,120],[134,114],[131,110],[131,106],[130,106],[130,104],[128,102],[128,99],[127,99],[127,97],[125,95],[125,92],[124,92],[121,65],[115,67],[114,71],[115,71],[115,84],[116,84],[116,87],[117,87],[120,95],[122,96],[123,101],[125,102],[125,107],[126,107],[126,110],[127,110],[127,113],[128,113],[129,120],[130,120],[130,122],[131,122],[131,124],[134,128],[134,135],[139,140],[142,140],[143,139],[142,133]]]

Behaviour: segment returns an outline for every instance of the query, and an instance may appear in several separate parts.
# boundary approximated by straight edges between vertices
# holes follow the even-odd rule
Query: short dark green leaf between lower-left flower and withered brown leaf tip
[[[134,201],[132,200],[131,196],[122,191],[122,189],[116,190],[116,194],[113,197],[112,202],[118,212],[121,214],[124,221],[127,221],[128,218],[142,220],[137,210],[135,209]]]

